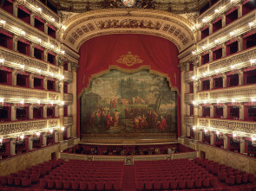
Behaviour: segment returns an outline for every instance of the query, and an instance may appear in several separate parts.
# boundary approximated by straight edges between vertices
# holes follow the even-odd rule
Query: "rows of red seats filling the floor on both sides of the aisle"
[[[129,175],[138,191],[256,191],[253,175],[207,159],[136,161],[126,168],[135,169]],[[0,190],[128,190],[124,169],[124,162],[59,159],[0,177]]]

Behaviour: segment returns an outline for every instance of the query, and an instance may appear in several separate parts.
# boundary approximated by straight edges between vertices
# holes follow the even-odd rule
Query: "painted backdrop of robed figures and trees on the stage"
[[[176,99],[166,78],[148,70],[111,70],[82,93],[82,134],[175,133]]]

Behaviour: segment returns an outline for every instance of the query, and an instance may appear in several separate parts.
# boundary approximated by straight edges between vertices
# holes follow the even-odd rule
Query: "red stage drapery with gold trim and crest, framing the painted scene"
[[[90,80],[108,73],[110,69],[135,73],[141,69],[149,69],[166,77],[170,86],[177,93],[177,125],[178,136],[181,136],[181,72],[178,68],[179,51],[171,41],[152,35],[102,35],[82,44],[79,50],[80,68],[77,72],[78,98],[89,87]],[[134,65],[119,63],[122,55],[130,55],[137,60]],[[77,101],[77,135],[80,136],[80,99]]]

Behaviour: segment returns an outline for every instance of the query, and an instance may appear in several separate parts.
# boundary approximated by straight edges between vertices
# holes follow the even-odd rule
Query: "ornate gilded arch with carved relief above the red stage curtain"
[[[161,10],[109,9],[94,10],[71,17],[62,43],[79,51],[82,43],[99,35],[155,35],[174,42],[181,53],[195,42],[193,24],[182,16]]]

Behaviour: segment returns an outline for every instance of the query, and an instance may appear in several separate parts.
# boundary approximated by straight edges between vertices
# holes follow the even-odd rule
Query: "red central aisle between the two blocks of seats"
[[[121,191],[135,191],[135,166],[124,166]]]

